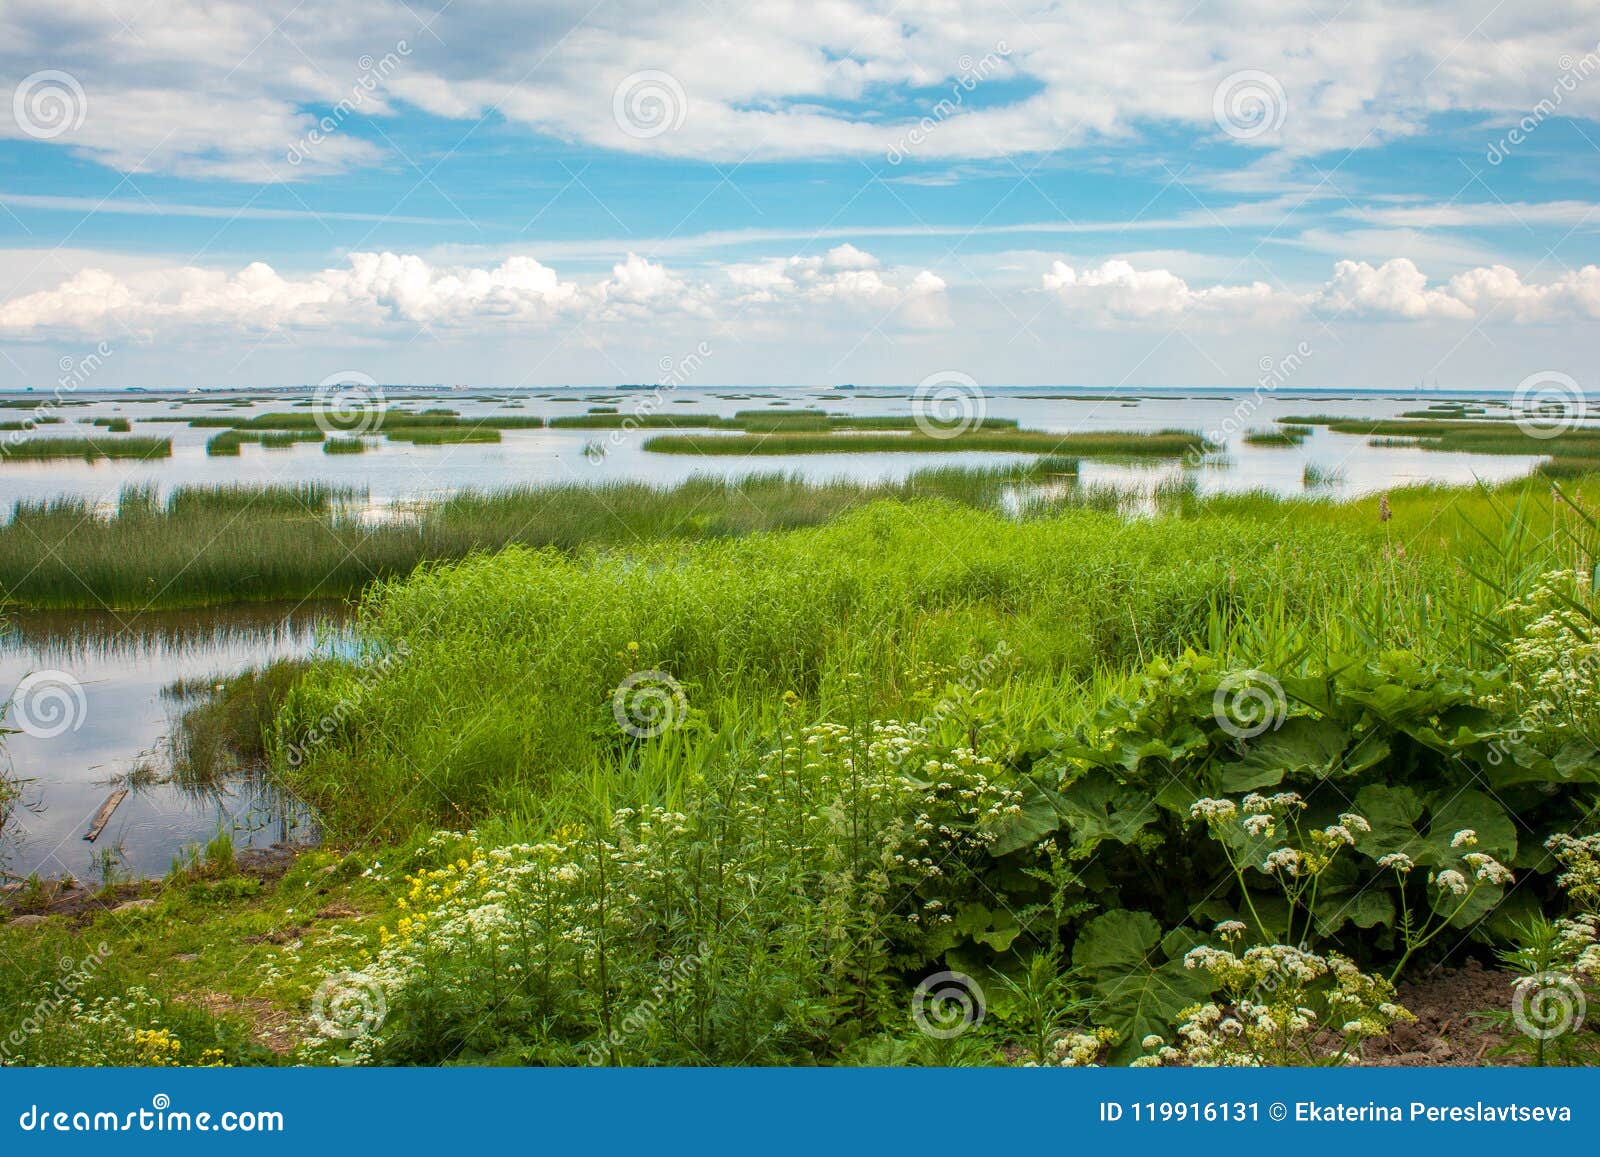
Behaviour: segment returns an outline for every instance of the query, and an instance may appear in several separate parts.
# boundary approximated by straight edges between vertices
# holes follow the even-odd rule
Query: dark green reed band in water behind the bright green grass
[[[992,509],[1018,485],[1075,472],[1077,462],[1048,458],[1021,469],[923,470],[882,485],[763,475],[530,486],[461,493],[426,507],[414,525],[382,526],[342,517],[362,494],[330,486],[179,486],[165,504],[130,490],[110,518],[78,499],[19,502],[0,526],[0,603],[144,608],[347,597],[422,562],[509,544],[578,550],[728,538],[818,525],[883,498]]]

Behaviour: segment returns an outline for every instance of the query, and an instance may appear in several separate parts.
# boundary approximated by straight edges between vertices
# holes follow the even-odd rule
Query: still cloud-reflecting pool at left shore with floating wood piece
[[[109,853],[122,875],[162,875],[174,855],[218,831],[238,848],[314,842],[306,808],[254,775],[205,792],[168,781],[184,706],[170,688],[307,655],[339,618],[326,607],[11,613],[0,634],[0,687],[32,691],[14,695],[5,712],[5,725],[18,728],[5,754],[26,783],[24,807],[0,839],[0,871],[99,880]],[[131,775],[130,795],[90,843],[93,815]]]

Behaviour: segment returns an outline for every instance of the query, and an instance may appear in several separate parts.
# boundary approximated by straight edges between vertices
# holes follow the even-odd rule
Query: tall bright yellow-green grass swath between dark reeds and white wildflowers
[[[1366,510],[1315,525],[1235,509],[1014,522],[877,502],[792,533],[626,554],[510,547],[424,568],[370,592],[358,621],[403,661],[366,679],[333,741],[290,775],[336,829],[400,835],[568,799],[626,762],[613,690],[635,671],[670,675],[691,727],[722,733],[770,722],[786,693],[824,717],[893,717],[918,671],[1003,645],[1014,711],[1051,728],[1075,709],[1062,687],[1203,645],[1219,623],[1282,624],[1283,647],[1330,655],[1357,637],[1352,608],[1384,589],[1378,642],[1448,642],[1429,605],[1467,583],[1451,560],[1395,557]],[[283,735],[350,701],[357,677],[318,667]],[[467,685],[469,698],[450,690]]]

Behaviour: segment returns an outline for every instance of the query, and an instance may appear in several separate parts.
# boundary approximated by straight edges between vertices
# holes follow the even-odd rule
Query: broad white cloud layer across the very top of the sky
[[[653,0],[437,11],[414,0],[16,0],[0,8],[0,80],[10,88],[40,67],[82,78],[86,117],[54,142],[102,163],[250,181],[374,163],[389,149],[360,122],[402,106],[717,162],[1002,157],[1152,125],[1224,141],[1213,98],[1238,74],[1270,75],[1283,107],[1270,131],[1234,139],[1307,155],[1405,138],[1442,112],[1522,115],[1550,96],[1552,62],[1594,50],[1592,37],[1573,38],[1590,14],[1587,0],[1350,0],[1333,19],[1275,0],[1021,13],[986,0],[822,0],[736,18]],[[616,93],[640,72],[674,78],[670,131],[618,123]],[[994,94],[971,99],[976,85]],[[341,115],[301,165],[285,163],[352,99],[349,123]],[[1597,114],[1600,88],[1563,94],[1560,115]],[[0,122],[0,134],[19,133]]]

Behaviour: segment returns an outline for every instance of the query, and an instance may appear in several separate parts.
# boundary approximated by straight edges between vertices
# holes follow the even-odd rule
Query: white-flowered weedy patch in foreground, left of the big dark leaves
[[[494,848],[472,832],[440,834],[429,848],[438,866],[406,877],[398,915],[362,968],[389,1018],[350,1055],[386,1059],[408,1002],[482,991],[491,1016],[506,984],[525,1010],[520,1023],[592,1043],[589,1000],[574,994],[592,992],[597,973],[606,971],[624,1005],[654,1008],[658,986],[638,976],[680,951],[667,933],[738,938],[739,920],[779,919],[771,914],[792,907],[795,891],[814,899],[826,930],[797,933],[818,968],[830,967],[834,941],[859,939],[853,922],[874,920],[878,943],[926,935],[954,922],[970,888],[957,869],[987,859],[1022,799],[992,759],[934,747],[915,725],[818,723],[754,768],[696,784],[683,811],[621,808],[598,831],[574,826],[542,843]],[[886,901],[907,893],[915,903]],[[758,935],[774,933],[763,925]]]

